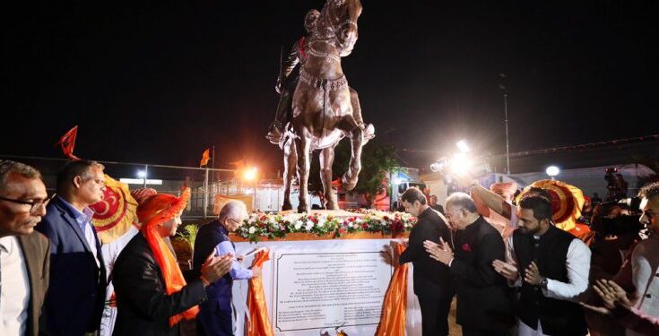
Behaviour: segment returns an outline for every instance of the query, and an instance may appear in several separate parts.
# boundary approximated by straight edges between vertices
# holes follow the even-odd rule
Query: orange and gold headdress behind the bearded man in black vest
[[[556,223],[557,228],[565,231],[576,228],[577,219],[581,216],[581,209],[584,207],[584,193],[581,189],[556,180],[535,181],[517,195],[517,203],[525,195],[533,193],[530,191],[533,187],[542,188],[551,196],[551,220]]]

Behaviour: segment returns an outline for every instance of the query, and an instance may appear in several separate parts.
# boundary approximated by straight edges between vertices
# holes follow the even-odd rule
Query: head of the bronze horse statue
[[[334,38],[340,56],[348,56],[357,43],[357,19],[361,14],[360,0],[327,0],[316,24],[321,38]]]

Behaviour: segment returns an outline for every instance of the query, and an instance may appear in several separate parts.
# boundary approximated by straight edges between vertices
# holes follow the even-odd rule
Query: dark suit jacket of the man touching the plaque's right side
[[[423,247],[425,240],[438,243],[439,237],[450,242],[451,232],[438,212],[428,208],[419,215],[410,232],[409,244],[399,260],[400,263],[412,262],[414,294],[419,297],[453,297],[453,280],[448,274],[448,267],[430,258]]]

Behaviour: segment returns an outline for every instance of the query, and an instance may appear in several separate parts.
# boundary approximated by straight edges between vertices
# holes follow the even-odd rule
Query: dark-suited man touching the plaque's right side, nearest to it
[[[448,311],[455,293],[448,267],[438,263],[423,248],[423,242],[438,243],[442,238],[451,241],[451,232],[444,217],[430,209],[426,196],[417,188],[409,188],[401,195],[405,211],[418,218],[412,228],[407,249],[399,263],[414,266],[414,294],[421,306],[421,329],[424,336],[448,334]]]

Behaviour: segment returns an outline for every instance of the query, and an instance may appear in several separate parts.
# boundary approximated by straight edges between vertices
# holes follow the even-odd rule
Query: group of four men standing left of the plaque
[[[98,332],[106,286],[117,294],[116,335],[178,335],[196,318],[197,334],[233,335],[231,281],[260,276],[242,266],[228,234],[247,218],[229,202],[204,226],[187,277],[169,237],[177,232],[189,189],[180,196],[132,192],[140,233],[106,270],[91,204],[105,190],[103,165],[76,160],[48,196],[39,171],[0,160],[0,335],[83,336]],[[109,274],[108,274],[109,273]]]

